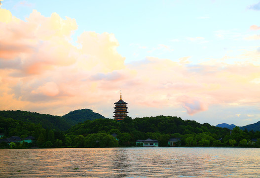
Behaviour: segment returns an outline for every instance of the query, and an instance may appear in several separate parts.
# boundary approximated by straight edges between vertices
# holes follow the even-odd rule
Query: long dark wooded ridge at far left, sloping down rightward
[[[64,118],[53,116],[50,114],[39,114],[29,111],[0,111],[0,119],[8,119],[22,121],[23,123],[40,124],[45,129],[56,129],[66,131],[72,127]]]

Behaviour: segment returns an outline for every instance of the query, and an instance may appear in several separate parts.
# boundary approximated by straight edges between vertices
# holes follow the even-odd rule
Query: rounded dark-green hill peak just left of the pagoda
[[[94,120],[105,118],[104,116],[93,112],[91,109],[79,109],[71,111],[70,113],[62,116],[71,125],[76,125],[77,123],[83,123],[86,120]]]

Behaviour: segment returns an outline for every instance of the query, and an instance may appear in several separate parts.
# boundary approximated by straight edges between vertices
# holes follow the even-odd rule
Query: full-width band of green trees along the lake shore
[[[32,135],[36,138],[35,146],[41,148],[125,147],[135,146],[135,140],[147,138],[158,140],[159,146],[168,146],[169,138],[181,138],[182,146],[260,146],[259,131],[242,131],[238,127],[229,130],[172,116],[127,117],[120,122],[112,119],[87,120],[65,132],[0,117],[1,132],[6,137]]]

